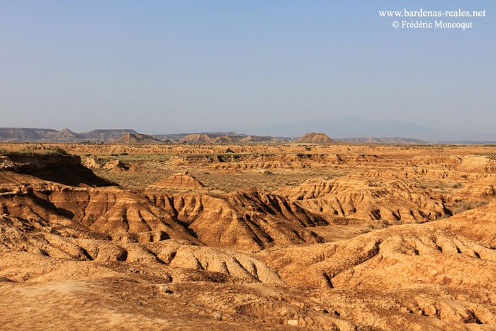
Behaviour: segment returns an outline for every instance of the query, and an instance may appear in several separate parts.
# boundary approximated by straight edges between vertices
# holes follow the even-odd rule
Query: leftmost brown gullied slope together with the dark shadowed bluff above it
[[[7,155],[0,159],[0,214],[77,223],[102,233],[162,231],[197,242],[192,230],[145,196],[120,189],[69,155]]]

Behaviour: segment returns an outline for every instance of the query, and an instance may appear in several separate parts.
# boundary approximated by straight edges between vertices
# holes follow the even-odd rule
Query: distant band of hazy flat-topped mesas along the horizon
[[[203,144],[229,144],[229,143],[283,143],[283,142],[314,142],[308,138],[315,135],[315,142],[356,142],[368,144],[425,144],[424,140],[415,138],[333,138],[332,140],[325,133],[310,133],[303,138],[295,137],[272,137],[268,135],[245,135],[235,132],[215,132],[215,133],[177,133],[171,135],[143,135],[132,129],[108,129],[92,130],[86,133],[74,133],[69,129],[60,131],[53,129],[37,128],[0,128],[0,142],[115,142],[115,143],[203,143]],[[339,137],[339,135],[332,135]],[[321,141],[322,140],[322,141]],[[431,141],[432,142],[432,141]],[[495,144],[496,140],[440,140],[434,141],[439,144]]]

